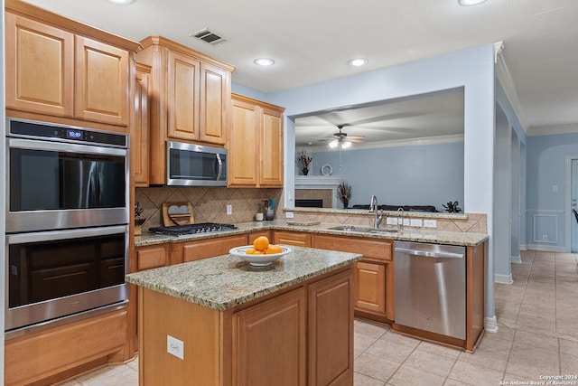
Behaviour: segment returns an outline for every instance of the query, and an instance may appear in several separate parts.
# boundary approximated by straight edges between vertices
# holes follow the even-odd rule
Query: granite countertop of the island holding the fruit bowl
[[[128,283],[218,311],[292,287],[362,257],[356,253],[294,247],[272,266],[254,268],[243,259],[222,255],[126,275]]]

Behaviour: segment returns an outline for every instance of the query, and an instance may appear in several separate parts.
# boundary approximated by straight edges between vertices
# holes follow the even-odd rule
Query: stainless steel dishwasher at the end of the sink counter
[[[395,322],[466,338],[465,247],[395,241]]]

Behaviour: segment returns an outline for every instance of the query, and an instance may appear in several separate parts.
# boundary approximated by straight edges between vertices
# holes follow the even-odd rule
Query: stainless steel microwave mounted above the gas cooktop
[[[169,186],[227,186],[227,149],[166,143],[166,184]]]

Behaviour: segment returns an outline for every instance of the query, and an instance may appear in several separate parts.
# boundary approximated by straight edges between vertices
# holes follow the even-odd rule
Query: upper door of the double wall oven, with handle
[[[6,141],[6,232],[128,222],[126,149]]]

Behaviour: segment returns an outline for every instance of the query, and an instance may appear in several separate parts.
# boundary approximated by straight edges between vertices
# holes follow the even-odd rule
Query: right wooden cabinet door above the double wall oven
[[[77,35],[75,116],[127,126],[129,74],[126,50]]]

